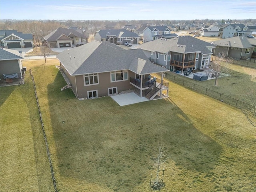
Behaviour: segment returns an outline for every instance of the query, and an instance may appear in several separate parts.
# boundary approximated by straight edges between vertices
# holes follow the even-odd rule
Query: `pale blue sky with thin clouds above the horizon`
[[[256,0],[0,0],[0,19],[256,19]]]

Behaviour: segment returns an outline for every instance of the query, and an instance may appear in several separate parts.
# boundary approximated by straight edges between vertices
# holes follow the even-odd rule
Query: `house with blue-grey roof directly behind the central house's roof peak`
[[[137,44],[140,36],[126,29],[99,30],[94,35],[94,40],[102,42],[110,42],[118,45],[129,41],[132,44]]]

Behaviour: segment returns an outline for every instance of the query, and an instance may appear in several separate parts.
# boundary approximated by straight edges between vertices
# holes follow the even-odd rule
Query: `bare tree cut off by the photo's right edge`
[[[252,84],[251,88],[248,88],[247,90],[249,91],[247,91],[246,97],[250,104],[246,107],[241,107],[241,109],[248,119],[248,122],[256,127],[256,85]]]

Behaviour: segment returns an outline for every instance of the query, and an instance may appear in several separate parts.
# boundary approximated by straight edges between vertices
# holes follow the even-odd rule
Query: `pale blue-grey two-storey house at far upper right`
[[[230,38],[234,36],[248,36],[252,32],[248,30],[248,27],[244,24],[230,24],[223,28],[222,38]]]

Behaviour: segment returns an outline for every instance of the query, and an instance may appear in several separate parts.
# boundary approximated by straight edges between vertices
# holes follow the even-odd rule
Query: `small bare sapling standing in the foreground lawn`
[[[159,181],[159,172],[161,170],[161,166],[162,164],[164,164],[164,162],[166,162],[168,156],[166,151],[164,150],[164,146],[162,144],[158,144],[158,151],[157,151],[157,155],[154,158],[154,166],[156,167],[156,180],[152,185],[152,188],[154,189],[160,189],[162,186],[164,186],[163,181]]]

